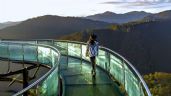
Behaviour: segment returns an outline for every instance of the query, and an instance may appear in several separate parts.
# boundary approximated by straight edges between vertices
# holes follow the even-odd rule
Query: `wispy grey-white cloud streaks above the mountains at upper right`
[[[171,6],[171,0],[115,0],[102,2],[101,4],[120,5],[121,7],[161,8]]]

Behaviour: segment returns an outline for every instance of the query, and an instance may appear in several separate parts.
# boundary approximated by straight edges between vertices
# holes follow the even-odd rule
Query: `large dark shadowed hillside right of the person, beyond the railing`
[[[171,72],[170,25],[171,21],[156,21],[93,32],[98,35],[101,45],[119,52],[141,73]],[[88,33],[84,32],[82,41],[87,39]]]

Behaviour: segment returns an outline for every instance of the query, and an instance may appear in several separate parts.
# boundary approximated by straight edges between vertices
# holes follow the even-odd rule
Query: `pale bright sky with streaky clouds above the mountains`
[[[0,0],[0,22],[43,15],[88,16],[105,11],[126,13],[171,10],[171,0]]]

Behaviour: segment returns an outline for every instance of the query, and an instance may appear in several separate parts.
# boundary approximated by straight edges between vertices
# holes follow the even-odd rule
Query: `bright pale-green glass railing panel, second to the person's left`
[[[81,58],[81,45],[68,43],[68,55]]]

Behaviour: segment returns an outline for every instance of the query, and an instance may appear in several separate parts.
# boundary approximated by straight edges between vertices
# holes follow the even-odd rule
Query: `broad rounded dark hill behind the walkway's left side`
[[[56,39],[86,29],[105,28],[110,24],[76,17],[42,16],[0,30],[3,39]]]

